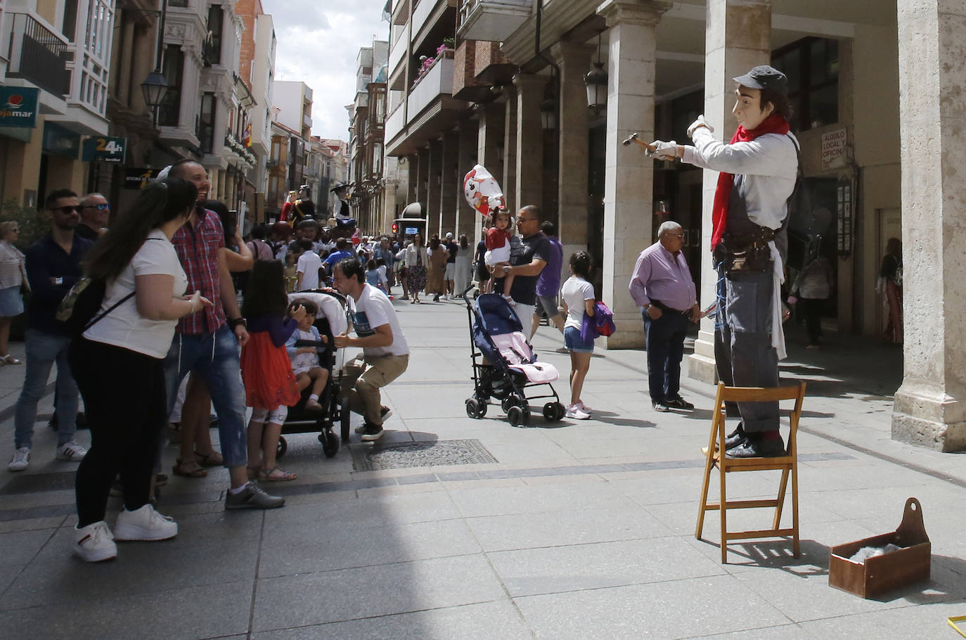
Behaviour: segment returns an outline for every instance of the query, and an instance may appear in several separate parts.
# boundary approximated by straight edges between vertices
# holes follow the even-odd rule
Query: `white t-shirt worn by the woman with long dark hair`
[[[162,231],[155,229],[148,234],[141,248],[131,258],[120,276],[107,283],[104,302],[98,315],[115,305],[134,290],[135,276],[174,276],[173,298],[181,298],[187,289],[187,276],[182,269],[178,253]],[[152,358],[164,358],[171,348],[177,320],[148,320],[137,312],[135,296],[101,318],[84,337],[95,342],[112,344],[130,351],[143,353]],[[97,316],[95,316],[97,317]]]

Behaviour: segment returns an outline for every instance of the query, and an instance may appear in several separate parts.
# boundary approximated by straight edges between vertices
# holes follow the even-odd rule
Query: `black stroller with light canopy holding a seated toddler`
[[[346,320],[346,299],[341,295],[327,290],[299,291],[289,294],[289,302],[306,298],[319,306],[319,314],[315,318],[315,328],[319,335],[326,336],[327,343],[308,340],[298,340],[297,346],[315,346],[319,352],[319,364],[328,370],[326,391],[319,398],[323,411],[306,411],[305,402],[312,393],[309,386],[301,393],[298,403],[289,407],[289,415],[282,424],[282,433],[314,433],[319,432],[319,442],[322,443],[326,457],[332,457],[339,451],[339,438],[332,433],[332,425],[339,422],[342,442],[349,442],[349,400],[342,397],[342,350],[332,348],[333,336],[344,333],[348,327]],[[337,364],[337,366],[336,366]],[[278,451],[281,457],[288,451],[288,443],[284,437],[278,438]]]

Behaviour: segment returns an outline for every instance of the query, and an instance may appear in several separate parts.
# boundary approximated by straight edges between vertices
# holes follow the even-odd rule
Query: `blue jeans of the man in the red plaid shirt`
[[[188,371],[201,376],[212,393],[218,414],[218,437],[225,467],[241,467],[248,462],[244,425],[244,386],[241,384],[239,343],[228,325],[214,334],[175,334],[164,359],[164,382],[171,414],[178,387]]]

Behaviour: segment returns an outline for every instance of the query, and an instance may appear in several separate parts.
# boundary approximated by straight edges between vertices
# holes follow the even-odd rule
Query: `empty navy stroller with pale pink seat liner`
[[[467,294],[471,288],[462,294],[469,316],[473,367],[473,395],[467,398],[467,415],[483,418],[490,399],[497,398],[510,424],[520,426],[530,420],[529,400],[554,398],[544,404],[544,418],[548,422],[563,418],[565,409],[551,384],[560,377],[554,365],[536,362],[520,319],[502,296],[485,293],[470,302]],[[537,387],[548,387],[550,393],[526,395],[526,389]]]

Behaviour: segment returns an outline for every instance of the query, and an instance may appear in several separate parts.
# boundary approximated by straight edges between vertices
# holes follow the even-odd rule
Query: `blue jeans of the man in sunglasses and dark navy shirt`
[[[77,430],[77,383],[67,362],[71,338],[67,335],[47,334],[28,329],[26,335],[27,363],[24,367],[23,389],[16,401],[14,413],[14,447],[28,449],[34,442],[34,423],[37,422],[37,403],[50,377],[50,367],[57,363],[57,446],[73,440]]]

